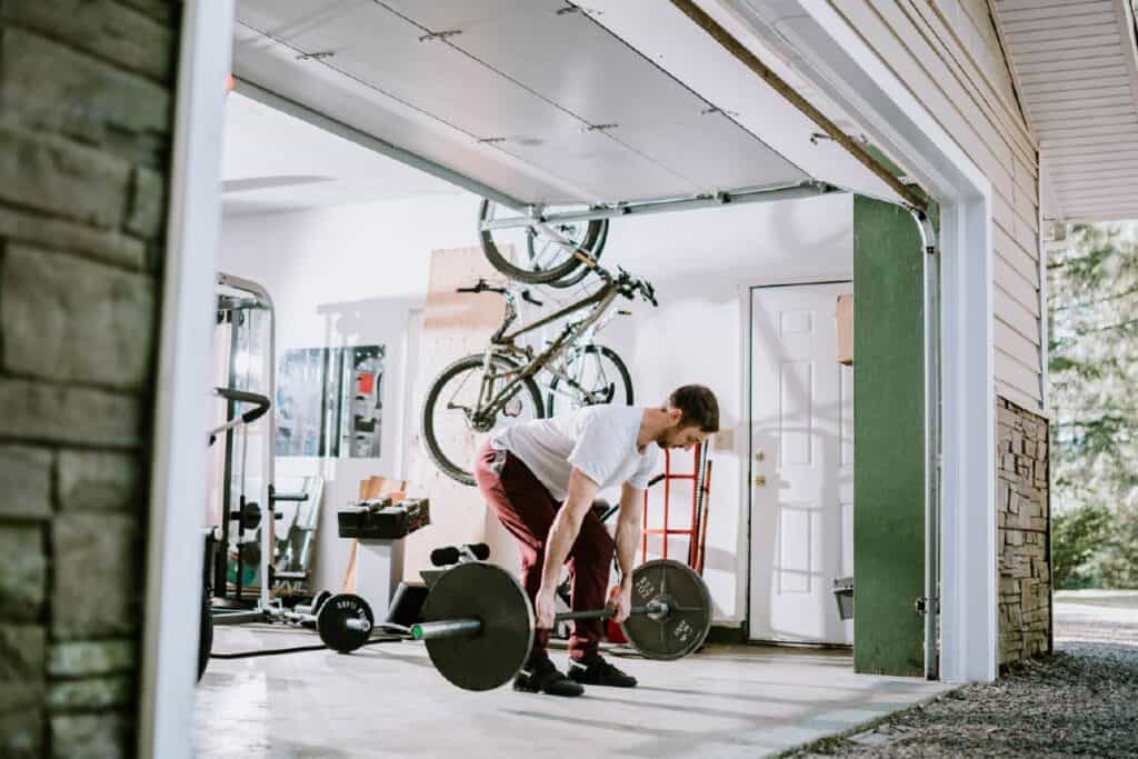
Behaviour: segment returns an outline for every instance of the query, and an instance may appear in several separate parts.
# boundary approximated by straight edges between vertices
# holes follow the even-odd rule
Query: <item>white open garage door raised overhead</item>
[[[233,68],[253,94],[291,101],[511,205],[815,187],[559,0],[239,0]]]

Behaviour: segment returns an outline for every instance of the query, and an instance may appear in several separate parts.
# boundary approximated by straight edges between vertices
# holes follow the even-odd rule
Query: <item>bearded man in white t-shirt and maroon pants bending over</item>
[[[534,602],[537,634],[514,690],[580,695],[584,685],[633,687],[636,678],[597,652],[602,620],[576,620],[572,662],[562,674],[546,653],[561,567],[569,566],[574,611],[605,603],[616,552],[620,583],[608,603],[620,622],[632,607],[633,561],[641,539],[643,490],[660,448],[690,449],[719,431],[719,404],[706,387],[686,385],[659,409],[586,406],[504,429],[475,460],[478,489],[517,539],[521,579]],[[621,485],[616,541],[592,511],[599,490]]]

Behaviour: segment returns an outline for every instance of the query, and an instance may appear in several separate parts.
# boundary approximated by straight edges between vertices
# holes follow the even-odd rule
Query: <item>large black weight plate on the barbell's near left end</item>
[[[534,611],[518,580],[501,567],[470,562],[447,570],[431,585],[423,621],[478,619],[479,634],[427,641],[435,668],[467,691],[508,683],[534,645]]]

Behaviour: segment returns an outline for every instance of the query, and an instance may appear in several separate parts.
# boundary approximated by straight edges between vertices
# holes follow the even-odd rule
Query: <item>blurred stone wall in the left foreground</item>
[[[134,750],[179,19],[0,0],[3,757]]]

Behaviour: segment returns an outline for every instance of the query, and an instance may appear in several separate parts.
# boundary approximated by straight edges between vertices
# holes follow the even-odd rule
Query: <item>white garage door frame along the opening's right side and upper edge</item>
[[[819,0],[719,0],[855,117],[940,204],[940,677],[997,675],[991,183],[865,40]]]

